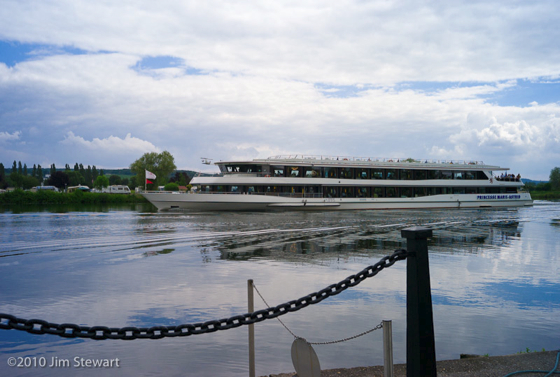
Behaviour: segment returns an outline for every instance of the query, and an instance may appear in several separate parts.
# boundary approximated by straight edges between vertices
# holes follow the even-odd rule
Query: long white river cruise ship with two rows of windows
[[[203,163],[210,164],[207,159]],[[215,162],[188,193],[148,191],[159,210],[492,208],[533,204],[519,176],[481,161],[276,156]],[[500,174],[501,173],[501,174]]]

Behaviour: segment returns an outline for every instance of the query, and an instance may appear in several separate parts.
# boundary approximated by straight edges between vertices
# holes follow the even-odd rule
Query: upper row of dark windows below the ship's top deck
[[[225,165],[220,166],[222,173],[257,173],[272,177],[305,178],[342,178],[342,179],[483,179],[488,177],[482,171],[416,170],[416,169],[374,169],[374,168],[337,168],[315,166],[265,166]]]

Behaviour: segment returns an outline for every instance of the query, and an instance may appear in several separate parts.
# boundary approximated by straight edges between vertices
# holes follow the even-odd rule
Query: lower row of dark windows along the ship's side
[[[202,186],[202,193],[261,194],[324,198],[413,198],[442,194],[516,193],[515,187],[344,187],[344,186]]]

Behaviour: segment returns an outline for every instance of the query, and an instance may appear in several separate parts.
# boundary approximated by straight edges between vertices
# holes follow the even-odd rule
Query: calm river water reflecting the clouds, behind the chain
[[[247,280],[273,306],[337,283],[430,225],[437,359],[560,348],[560,203],[500,210],[155,212],[151,206],[0,208],[0,312],[86,326],[151,327],[247,312]],[[265,304],[255,296],[256,309]],[[406,360],[406,261],[280,317],[310,342],[393,320]],[[257,375],[293,371],[293,337],[258,323]],[[323,369],[382,365],[382,333],[316,345]],[[247,327],[159,340],[65,339],[0,330],[0,375],[246,376]],[[10,358],[45,358],[40,368]],[[24,359],[19,359],[24,360]],[[58,366],[49,367],[52,360]],[[64,365],[70,361],[70,366]]]

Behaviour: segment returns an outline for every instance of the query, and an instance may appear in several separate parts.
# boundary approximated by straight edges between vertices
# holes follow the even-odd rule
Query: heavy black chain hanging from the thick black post
[[[392,255],[381,258],[376,264],[363,269],[355,275],[348,276],[338,284],[313,292],[297,300],[288,301],[276,307],[257,310],[253,313],[245,313],[230,318],[220,320],[184,324],[179,326],[154,326],[154,327],[105,327],[105,326],[78,326],[72,323],[50,323],[40,319],[22,319],[13,315],[0,313],[0,329],[21,330],[31,334],[52,334],[64,338],[89,338],[95,340],[104,339],[161,339],[173,338],[176,336],[189,336],[206,334],[218,330],[229,330],[243,325],[262,322],[266,319],[276,318],[286,313],[296,312],[309,305],[317,304],[327,297],[335,296],[342,291],[360,284],[367,278],[377,275],[381,270],[390,267],[399,260],[404,260],[408,256],[406,250],[396,250]]]

